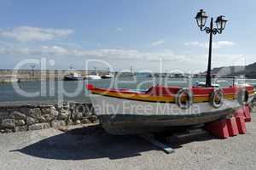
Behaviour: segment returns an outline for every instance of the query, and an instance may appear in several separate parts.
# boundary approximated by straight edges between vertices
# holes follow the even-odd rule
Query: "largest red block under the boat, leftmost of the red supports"
[[[205,128],[213,136],[216,136],[220,139],[227,139],[230,136],[227,122],[225,120],[211,122],[207,124]]]

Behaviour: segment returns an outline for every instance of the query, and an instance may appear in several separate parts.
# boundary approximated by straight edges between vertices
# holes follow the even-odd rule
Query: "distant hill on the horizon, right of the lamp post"
[[[246,66],[216,67],[212,69],[212,74],[233,76],[245,75],[246,77],[256,78],[256,62]]]

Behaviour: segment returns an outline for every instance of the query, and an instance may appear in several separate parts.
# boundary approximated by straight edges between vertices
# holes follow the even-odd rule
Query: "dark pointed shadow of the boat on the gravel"
[[[212,139],[212,137],[204,140],[208,139]],[[174,148],[182,147],[182,145],[173,145]],[[86,160],[104,157],[122,159],[141,156],[141,153],[149,150],[160,149],[136,135],[114,136],[106,133],[102,127],[96,126],[69,130],[66,133],[43,139],[20,150],[11,151],[20,151],[29,156],[46,159]]]

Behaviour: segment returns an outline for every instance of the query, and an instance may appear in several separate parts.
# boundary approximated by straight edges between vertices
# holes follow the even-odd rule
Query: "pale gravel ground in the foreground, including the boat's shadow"
[[[189,141],[170,155],[136,136],[112,136],[96,127],[0,134],[0,150],[1,170],[251,170],[256,166],[256,122],[247,123],[246,134]]]

